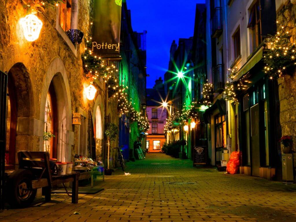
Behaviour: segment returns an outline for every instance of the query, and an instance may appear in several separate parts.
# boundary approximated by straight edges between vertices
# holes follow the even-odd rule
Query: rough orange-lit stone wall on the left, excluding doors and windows
[[[89,32],[90,0],[79,0],[78,8],[78,29],[86,34]],[[77,45],[73,52],[73,46],[71,49],[56,29],[57,11],[57,8],[46,7],[43,14],[37,14],[43,27],[39,38],[29,42],[18,22],[27,13],[21,1],[0,0],[0,70],[8,72],[17,87],[17,150],[42,150],[44,104],[49,84],[55,81],[61,114],[59,135],[63,135],[58,141],[58,152],[60,160],[70,161],[78,152],[80,129],[80,126],[72,125],[72,114],[78,110],[86,113],[89,109],[94,110],[96,99],[89,101],[83,95],[83,86],[88,84],[81,60],[85,45]],[[99,82],[97,88],[96,96],[102,98],[99,105],[105,107],[105,84]],[[112,114],[110,121],[118,124],[116,103],[109,102],[107,106],[107,115]],[[101,109],[103,131],[105,111],[105,108]]]

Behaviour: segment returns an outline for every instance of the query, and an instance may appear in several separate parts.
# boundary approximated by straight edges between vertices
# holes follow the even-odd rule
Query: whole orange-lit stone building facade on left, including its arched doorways
[[[72,0],[70,27],[89,32],[92,1]],[[43,26],[39,38],[24,38],[20,18],[27,15],[21,1],[0,2],[0,70],[8,73],[10,123],[7,124],[7,158],[17,164],[19,150],[44,151],[46,109],[52,109],[55,137],[49,141],[51,157],[72,161],[75,154],[88,154],[90,119],[96,126],[97,158],[106,160],[105,121],[118,126],[116,101],[106,99],[106,85],[96,82],[96,96],[88,100],[83,90],[89,85],[82,68],[84,42],[73,45],[62,28],[61,4],[45,7],[36,14]],[[68,5],[67,5],[68,7]],[[50,101],[50,102],[49,102]],[[48,105],[49,104],[49,105]],[[81,125],[72,124],[73,113],[81,114]],[[113,146],[118,145],[118,139]],[[111,151],[113,152],[113,151]],[[115,165],[115,152],[111,153]]]

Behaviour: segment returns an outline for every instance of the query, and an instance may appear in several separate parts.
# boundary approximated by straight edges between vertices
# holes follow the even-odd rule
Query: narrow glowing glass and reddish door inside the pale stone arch
[[[50,158],[57,158],[58,124],[57,96],[53,83],[49,85],[46,96],[44,113],[44,151],[49,152]]]

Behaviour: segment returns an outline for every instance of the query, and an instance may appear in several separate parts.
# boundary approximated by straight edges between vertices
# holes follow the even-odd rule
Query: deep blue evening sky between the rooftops
[[[193,36],[195,5],[205,0],[126,0],[133,30],[147,30],[147,88],[168,69],[173,40]]]

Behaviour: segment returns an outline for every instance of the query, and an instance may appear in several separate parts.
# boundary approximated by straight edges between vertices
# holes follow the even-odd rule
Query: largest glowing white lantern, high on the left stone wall
[[[36,15],[30,14],[20,19],[25,38],[29,42],[35,41],[40,34],[42,22]]]

